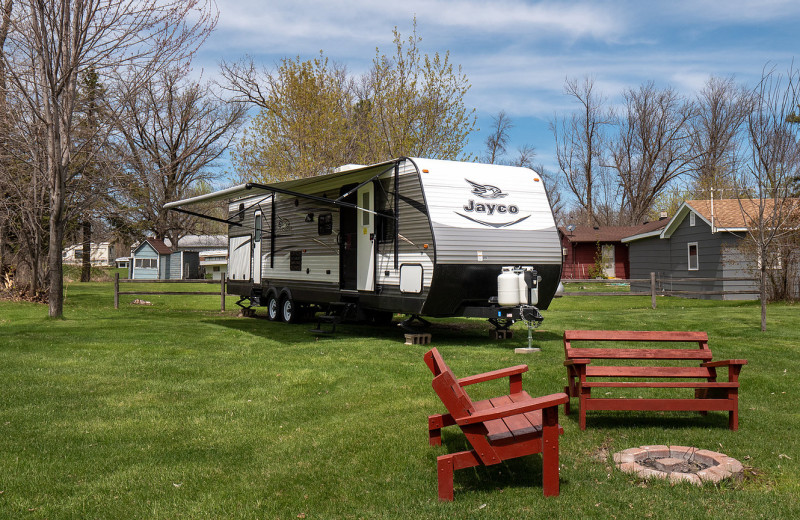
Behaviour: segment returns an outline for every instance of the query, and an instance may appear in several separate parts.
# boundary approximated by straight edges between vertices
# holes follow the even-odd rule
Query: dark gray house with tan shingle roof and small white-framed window
[[[655,272],[659,288],[665,291],[701,292],[686,295],[701,299],[754,300],[758,299],[755,266],[743,259],[739,249],[746,236],[739,200],[688,200],[664,229],[626,237],[622,242],[628,244],[632,279],[649,278]],[[708,280],[743,277],[753,281]],[[631,284],[631,291],[648,290],[649,284]]]

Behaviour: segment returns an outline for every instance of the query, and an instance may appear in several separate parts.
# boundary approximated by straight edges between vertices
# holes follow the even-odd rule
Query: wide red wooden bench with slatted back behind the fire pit
[[[624,344],[598,348],[576,347],[578,342]],[[670,343],[669,348],[630,347],[630,342]],[[680,344],[693,344],[691,348]],[[678,345],[674,345],[678,344]],[[586,429],[588,410],[728,411],[728,428],[739,428],[739,372],[744,359],[712,361],[705,332],[567,330],[564,351],[569,397],[579,398],[578,423]],[[596,360],[604,360],[595,363]],[[663,366],[670,362],[670,366]],[[689,366],[687,362],[694,362]],[[683,363],[683,366],[672,366]],[[717,368],[727,367],[728,380],[717,381]],[[622,380],[621,380],[622,379]],[[679,380],[679,381],[676,381]],[[593,388],[687,388],[693,398],[593,397]],[[569,402],[564,406],[570,413]]]

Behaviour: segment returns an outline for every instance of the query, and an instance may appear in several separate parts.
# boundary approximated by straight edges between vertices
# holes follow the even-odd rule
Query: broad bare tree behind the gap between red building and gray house
[[[645,83],[624,94],[610,166],[622,191],[624,224],[641,223],[663,190],[689,171],[692,103],[672,88]]]

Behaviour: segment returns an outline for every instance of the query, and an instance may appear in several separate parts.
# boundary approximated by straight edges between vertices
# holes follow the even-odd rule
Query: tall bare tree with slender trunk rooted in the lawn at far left
[[[206,0],[20,0],[3,54],[14,88],[44,125],[49,190],[49,313],[63,314],[61,249],[74,154],[78,74],[136,67],[135,83],[191,54],[216,23]]]

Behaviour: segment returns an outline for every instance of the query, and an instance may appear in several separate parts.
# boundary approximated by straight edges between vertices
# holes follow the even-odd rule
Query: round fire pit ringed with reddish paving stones
[[[614,454],[617,468],[640,478],[658,477],[672,482],[719,482],[740,477],[742,464],[724,453],[690,446],[639,446]]]

